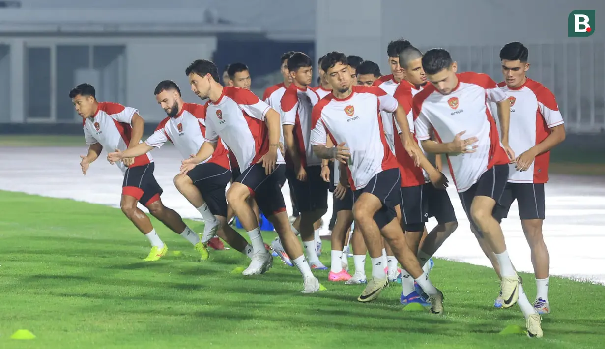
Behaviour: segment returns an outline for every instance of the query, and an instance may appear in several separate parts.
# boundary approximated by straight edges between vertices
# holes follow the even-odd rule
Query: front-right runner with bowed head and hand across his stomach
[[[431,85],[413,99],[416,137],[425,151],[447,154],[466,215],[498,259],[502,306],[512,307],[518,300],[528,335],[541,337],[540,315],[523,293],[502,228],[492,215],[508,180],[508,163],[515,158],[508,145],[510,103],[506,93],[486,74],[456,74],[456,62],[442,48],[425,52],[422,68]],[[498,105],[502,139],[487,108],[488,100]],[[430,139],[431,131],[439,142]]]

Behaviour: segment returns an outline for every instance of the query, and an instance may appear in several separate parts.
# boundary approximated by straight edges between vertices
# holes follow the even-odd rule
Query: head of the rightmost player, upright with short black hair
[[[528,55],[528,48],[520,42],[511,42],[500,50],[502,75],[507,86],[516,88],[523,85],[529,70]]]

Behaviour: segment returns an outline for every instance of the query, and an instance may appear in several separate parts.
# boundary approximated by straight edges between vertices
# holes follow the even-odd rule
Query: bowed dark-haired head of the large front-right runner
[[[441,94],[450,94],[458,83],[456,71],[458,65],[452,60],[450,53],[443,48],[433,48],[422,56],[422,68],[431,82]]]

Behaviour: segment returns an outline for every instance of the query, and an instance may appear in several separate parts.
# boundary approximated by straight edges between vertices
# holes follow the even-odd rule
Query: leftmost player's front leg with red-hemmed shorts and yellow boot
[[[137,207],[140,198],[143,197],[143,189],[141,188],[142,179],[146,171],[152,171],[154,164],[150,163],[143,166],[135,166],[126,169],[124,180],[122,182],[122,199],[120,200],[120,208],[124,215],[132,221],[134,226],[142,232],[149,243],[151,250],[145,261],[157,261],[168,251],[168,246],[160,239],[160,236],[155,232],[151,224],[151,220],[142,210]]]

